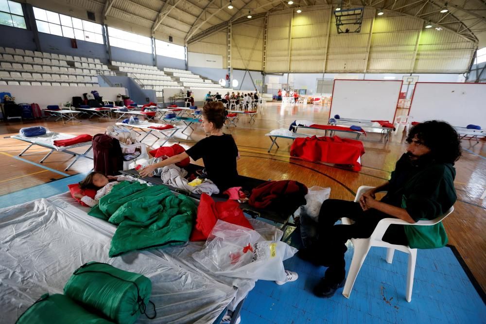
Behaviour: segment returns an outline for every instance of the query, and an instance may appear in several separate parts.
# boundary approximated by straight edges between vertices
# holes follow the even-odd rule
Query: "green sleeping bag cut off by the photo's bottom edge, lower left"
[[[17,324],[109,324],[113,323],[89,312],[69,297],[48,293],[42,295],[20,315]]]

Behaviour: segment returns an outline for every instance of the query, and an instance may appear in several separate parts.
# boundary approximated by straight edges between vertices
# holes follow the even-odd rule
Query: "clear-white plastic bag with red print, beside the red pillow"
[[[265,241],[254,230],[218,220],[205,248],[192,257],[212,273],[285,281],[283,260],[296,252],[282,241]]]

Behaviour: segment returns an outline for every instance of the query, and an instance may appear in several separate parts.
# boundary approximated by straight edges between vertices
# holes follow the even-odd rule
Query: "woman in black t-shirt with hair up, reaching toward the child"
[[[207,102],[203,107],[202,119],[201,125],[204,131],[209,133],[208,137],[201,139],[186,152],[141,169],[140,175],[148,176],[156,168],[175,164],[187,157],[191,157],[194,161],[202,158],[208,178],[221,192],[237,186],[236,160],[240,158],[240,154],[233,136],[224,134],[221,130],[225,124],[223,103]]]

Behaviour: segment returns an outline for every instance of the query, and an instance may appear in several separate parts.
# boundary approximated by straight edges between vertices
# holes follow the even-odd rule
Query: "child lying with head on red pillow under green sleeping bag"
[[[110,193],[111,189],[118,185],[121,181],[127,180],[127,181],[133,181],[134,178],[128,177],[125,175],[104,175],[101,172],[91,172],[87,175],[87,177],[79,183],[79,188],[81,189],[87,189],[87,188],[92,188],[92,189],[98,189],[96,192],[96,195],[94,196],[94,199],[91,197],[82,195],[80,193],[77,193],[74,195],[74,198],[81,199],[83,203],[86,205],[92,207],[94,205],[98,205],[101,197],[104,195],[107,195]]]

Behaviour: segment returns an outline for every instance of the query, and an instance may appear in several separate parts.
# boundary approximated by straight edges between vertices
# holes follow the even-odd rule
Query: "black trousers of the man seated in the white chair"
[[[342,217],[352,219],[352,225],[334,224]],[[319,212],[318,240],[315,253],[318,261],[328,267],[325,273],[329,283],[340,283],[346,276],[344,255],[348,239],[366,239],[371,236],[376,225],[390,215],[376,209],[363,211],[359,203],[345,200],[325,200]],[[392,224],[388,227],[383,240],[392,244],[406,245],[407,237],[403,225]]]

